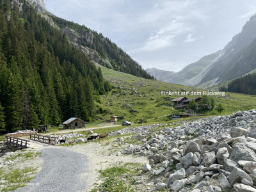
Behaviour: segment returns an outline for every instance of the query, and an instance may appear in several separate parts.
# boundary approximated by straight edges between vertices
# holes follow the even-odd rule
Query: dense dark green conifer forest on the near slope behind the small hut
[[[1,131],[90,121],[95,98],[110,89],[100,68],[31,5],[0,1]]]

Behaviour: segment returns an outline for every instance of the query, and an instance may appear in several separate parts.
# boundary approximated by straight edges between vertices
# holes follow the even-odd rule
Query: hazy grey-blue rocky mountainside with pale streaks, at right
[[[191,63],[168,78],[169,83],[179,83],[201,88],[214,86],[241,77],[256,68],[256,15],[244,25],[221,51],[196,63]],[[200,65],[203,60],[204,65]],[[199,70],[191,70],[193,67]],[[149,72],[149,71],[148,71]],[[159,79],[161,80],[161,79]]]

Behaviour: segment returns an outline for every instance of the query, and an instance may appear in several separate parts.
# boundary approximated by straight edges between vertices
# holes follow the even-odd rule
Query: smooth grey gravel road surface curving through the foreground
[[[61,147],[43,148],[40,152],[45,161],[42,172],[28,186],[15,191],[86,191],[86,156]]]

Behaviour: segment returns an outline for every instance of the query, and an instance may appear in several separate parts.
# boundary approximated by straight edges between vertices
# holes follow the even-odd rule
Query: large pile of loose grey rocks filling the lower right
[[[127,154],[147,154],[152,190],[256,191],[256,109],[165,127]],[[166,180],[161,182],[161,180]]]

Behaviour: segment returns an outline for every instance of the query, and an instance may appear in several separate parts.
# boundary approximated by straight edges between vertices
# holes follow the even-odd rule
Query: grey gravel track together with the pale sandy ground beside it
[[[102,128],[102,127],[100,127]],[[90,128],[91,129],[91,128]],[[42,153],[44,168],[30,185],[17,191],[90,191],[98,180],[98,170],[104,170],[117,163],[148,163],[147,157],[116,156],[120,151],[113,145],[113,139],[83,143],[72,147],[51,146],[31,141],[31,148]],[[76,180],[78,186],[70,183]],[[65,182],[62,182],[65,181]],[[35,185],[33,187],[33,185]],[[37,186],[36,186],[37,185]],[[79,187],[80,185],[80,187]],[[40,189],[40,190],[39,190]],[[45,191],[44,190],[44,191]]]

